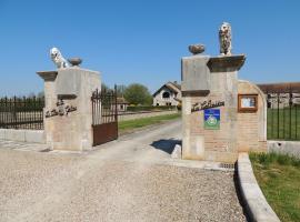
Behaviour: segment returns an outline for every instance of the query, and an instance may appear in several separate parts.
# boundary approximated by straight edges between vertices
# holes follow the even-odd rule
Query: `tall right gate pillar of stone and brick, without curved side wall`
[[[182,158],[234,162],[238,157],[238,70],[244,56],[182,58]],[[220,112],[206,129],[204,110]]]

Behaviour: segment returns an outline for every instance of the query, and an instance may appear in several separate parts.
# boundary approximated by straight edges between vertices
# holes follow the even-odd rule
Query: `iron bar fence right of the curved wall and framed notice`
[[[268,140],[300,140],[299,89],[267,89]]]

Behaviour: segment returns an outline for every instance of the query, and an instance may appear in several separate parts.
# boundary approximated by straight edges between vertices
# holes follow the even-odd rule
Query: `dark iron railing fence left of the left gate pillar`
[[[1,98],[0,128],[42,130],[43,108],[43,98]]]

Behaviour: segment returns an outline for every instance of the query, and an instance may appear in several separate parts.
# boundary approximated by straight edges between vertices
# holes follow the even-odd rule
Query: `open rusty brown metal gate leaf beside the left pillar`
[[[92,101],[93,145],[118,139],[117,87],[114,90],[96,90]]]

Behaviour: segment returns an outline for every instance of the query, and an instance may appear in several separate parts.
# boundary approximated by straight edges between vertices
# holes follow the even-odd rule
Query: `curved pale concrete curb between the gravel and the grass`
[[[241,196],[251,221],[280,222],[257,183],[248,153],[239,154],[238,176]]]

